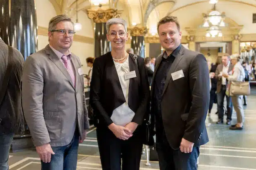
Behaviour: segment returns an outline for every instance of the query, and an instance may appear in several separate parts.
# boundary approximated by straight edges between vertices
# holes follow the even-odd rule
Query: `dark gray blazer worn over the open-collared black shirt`
[[[162,55],[157,57],[155,64],[151,87],[152,99],[154,99],[155,74],[161,61]],[[173,80],[171,73],[179,70],[183,70],[184,77]],[[209,141],[205,127],[210,101],[209,83],[208,65],[203,54],[181,46],[167,73],[161,102],[164,131],[173,149],[179,149],[182,138],[195,143],[194,146]],[[151,107],[154,118],[154,111],[157,109],[153,105]]]

